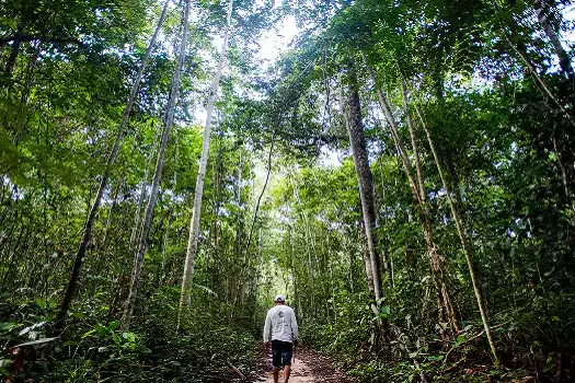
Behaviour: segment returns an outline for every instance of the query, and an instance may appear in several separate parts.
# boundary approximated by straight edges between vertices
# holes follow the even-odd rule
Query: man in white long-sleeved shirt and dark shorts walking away
[[[288,383],[291,372],[292,341],[298,341],[298,323],[296,314],[286,305],[284,295],[277,295],[275,306],[269,309],[265,317],[264,343],[269,346],[269,330],[272,330],[272,364],[274,365],[274,383],[278,383],[279,369],[285,365],[285,383]]]

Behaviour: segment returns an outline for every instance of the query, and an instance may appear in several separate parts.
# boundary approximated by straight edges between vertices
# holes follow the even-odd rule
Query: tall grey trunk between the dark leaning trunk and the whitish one
[[[124,315],[122,317],[122,326],[127,329],[131,321],[134,313],[134,305],[136,304],[136,298],[138,295],[138,286],[140,282],[141,267],[143,264],[143,255],[148,251],[148,236],[150,233],[150,228],[152,223],[153,210],[156,208],[156,202],[158,201],[158,189],[160,188],[160,178],[162,176],[163,169],[163,156],[165,148],[168,146],[168,140],[170,139],[170,132],[172,130],[172,125],[174,121],[174,111],[177,105],[177,97],[180,95],[180,79],[182,77],[182,67],[184,65],[186,47],[187,47],[187,35],[188,35],[188,16],[189,16],[191,0],[185,2],[184,20],[182,22],[182,40],[180,43],[180,51],[177,55],[177,63],[172,78],[172,90],[170,92],[170,100],[168,101],[166,114],[165,114],[165,126],[162,131],[162,138],[160,141],[160,148],[158,150],[158,158],[156,160],[156,169],[153,172],[152,185],[150,190],[150,199],[148,200],[148,206],[146,207],[146,214],[143,217],[143,224],[140,234],[140,242],[138,251],[136,252],[136,257],[134,260],[134,270],[131,275],[131,283],[128,298],[124,307]]]

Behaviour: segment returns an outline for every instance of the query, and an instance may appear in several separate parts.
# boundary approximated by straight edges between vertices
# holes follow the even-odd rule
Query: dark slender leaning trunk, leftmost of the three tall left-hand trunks
[[[88,220],[84,224],[82,239],[80,240],[80,245],[78,246],[78,252],[76,254],[74,263],[72,266],[72,270],[70,271],[70,278],[68,280],[68,286],[66,288],[66,292],[64,294],[62,303],[60,305],[60,310],[58,312],[58,315],[56,316],[55,321],[55,332],[59,333],[64,325],[64,320],[66,318],[66,314],[68,313],[68,309],[70,307],[70,303],[72,301],[72,295],[76,290],[76,285],[78,282],[78,278],[80,276],[80,268],[82,267],[82,263],[85,257],[85,249],[88,247],[88,243],[90,242],[91,235],[92,235],[92,227],[94,224],[97,210],[100,208],[100,202],[102,201],[102,196],[104,195],[104,190],[106,189],[107,181],[110,178],[110,175],[112,173],[112,169],[114,166],[114,162],[116,161],[116,158],[119,152],[119,143],[122,141],[122,138],[124,137],[124,132],[126,130],[126,127],[128,126],[128,119],[129,114],[131,112],[131,106],[134,105],[134,102],[136,101],[136,96],[138,95],[138,90],[140,86],[140,81],[143,76],[143,71],[146,69],[146,66],[148,63],[148,59],[150,58],[151,51],[153,46],[156,45],[156,39],[158,37],[158,34],[160,33],[160,30],[162,27],[163,21],[165,19],[165,13],[168,11],[168,4],[170,0],[165,1],[164,8],[162,10],[162,14],[160,15],[160,20],[158,20],[158,26],[156,27],[156,31],[153,32],[153,35],[150,39],[150,44],[148,45],[148,48],[146,49],[146,54],[143,55],[143,59],[140,63],[140,68],[138,69],[138,74],[136,76],[136,79],[134,81],[134,85],[131,86],[131,92],[128,98],[128,103],[126,104],[126,107],[124,108],[124,112],[122,114],[122,123],[119,124],[118,132],[116,135],[116,139],[114,141],[114,146],[112,147],[112,151],[110,152],[110,155],[106,161],[106,165],[104,167],[104,174],[102,175],[102,179],[100,182],[100,187],[97,188],[96,197],[94,199],[94,202],[92,205],[92,208],[90,209],[90,213],[88,216]]]

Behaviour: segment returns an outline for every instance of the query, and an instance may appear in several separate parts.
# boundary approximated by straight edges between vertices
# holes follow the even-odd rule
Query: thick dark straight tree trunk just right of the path
[[[361,123],[361,111],[359,104],[359,86],[357,84],[357,76],[355,65],[352,60],[347,65],[348,76],[348,105],[349,117],[347,125],[347,132],[349,135],[349,144],[354,156],[355,169],[357,173],[357,181],[359,184],[359,198],[361,200],[363,218],[367,239],[367,248],[369,252],[371,272],[373,277],[373,295],[377,301],[382,298],[381,294],[381,276],[380,262],[377,253],[377,240],[373,233],[376,228],[376,204],[373,196],[373,176],[369,167],[369,159],[367,155],[366,138],[364,136],[364,127]]]

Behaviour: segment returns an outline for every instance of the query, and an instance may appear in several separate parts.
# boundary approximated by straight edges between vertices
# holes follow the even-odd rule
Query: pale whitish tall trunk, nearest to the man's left
[[[214,112],[214,97],[219,86],[221,71],[226,62],[226,53],[228,49],[228,34],[231,27],[231,12],[233,8],[233,0],[230,0],[228,5],[227,27],[223,34],[223,42],[221,44],[220,60],[211,83],[208,94],[208,103],[206,107],[206,127],[204,129],[204,142],[202,146],[202,158],[199,161],[199,170],[197,173],[196,190],[194,196],[194,210],[192,213],[192,221],[189,222],[189,236],[187,240],[186,260],[184,265],[184,275],[182,278],[182,292],[180,295],[180,310],[177,316],[179,327],[182,325],[184,317],[187,317],[189,309],[189,294],[192,293],[192,279],[194,276],[194,266],[197,254],[197,242],[199,234],[199,217],[202,214],[202,198],[204,196],[204,178],[206,177],[206,167],[208,164],[209,141],[211,132],[211,114]]]

